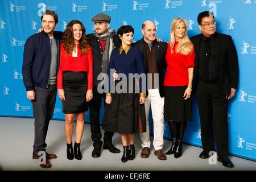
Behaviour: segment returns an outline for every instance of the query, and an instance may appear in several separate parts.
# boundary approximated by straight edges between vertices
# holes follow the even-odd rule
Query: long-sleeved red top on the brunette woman
[[[93,89],[93,56],[92,48],[88,47],[88,53],[82,55],[79,45],[77,45],[77,57],[67,56],[64,44],[60,44],[60,68],[57,76],[57,88],[63,89],[63,72],[87,72],[88,90]]]

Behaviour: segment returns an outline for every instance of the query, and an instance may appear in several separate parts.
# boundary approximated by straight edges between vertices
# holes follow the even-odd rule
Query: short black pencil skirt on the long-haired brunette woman
[[[62,101],[63,113],[75,114],[88,111],[86,72],[63,72],[63,88],[66,99]]]

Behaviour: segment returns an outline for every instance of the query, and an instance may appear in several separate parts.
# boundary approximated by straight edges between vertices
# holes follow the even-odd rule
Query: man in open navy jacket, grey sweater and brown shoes
[[[56,77],[59,67],[59,39],[54,38],[58,17],[54,11],[47,10],[41,17],[43,31],[31,35],[24,46],[23,82],[27,98],[31,100],[35,117],[35,139],[32,159],[39,159],[46,152],[46,135],[52,119],[56,101]],[[56,159],[55,154],[46,154],[42,168],[50,168],[48,159]]]

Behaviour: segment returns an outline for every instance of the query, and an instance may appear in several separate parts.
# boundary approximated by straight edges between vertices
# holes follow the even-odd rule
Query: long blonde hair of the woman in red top
[[[177,44],[176,53],[180,52],[184,55],[188,55],[190,52],[193,51],[193,44],[192,44],[191,40],[189,40],[189,38],[188,38],[187,21],[183,18],[174,18],[172,20],[171,34],[170,34],[170,48],[171,48],[171,52],[173,52],[174,43],[175,43],[174,31],[176,30],[177,27],[179,27],[180,22],[183,22],[185,24],[185,32],[184,32],[183,38],[180,40],[179,44]]]

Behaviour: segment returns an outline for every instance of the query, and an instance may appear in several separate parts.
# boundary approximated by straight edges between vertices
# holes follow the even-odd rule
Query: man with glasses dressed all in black
[[[209,158],[215,136],[218,162],[225,167],[234,167],[228,158],[228,101],[234,97],[238,83],[236,48],[231,36],[216,32],[213,13],[201,12],[197,22],[202,33],[193,36],[191,41],[196,52],[193,88],[199,107],[203,145],[199,158]]]

